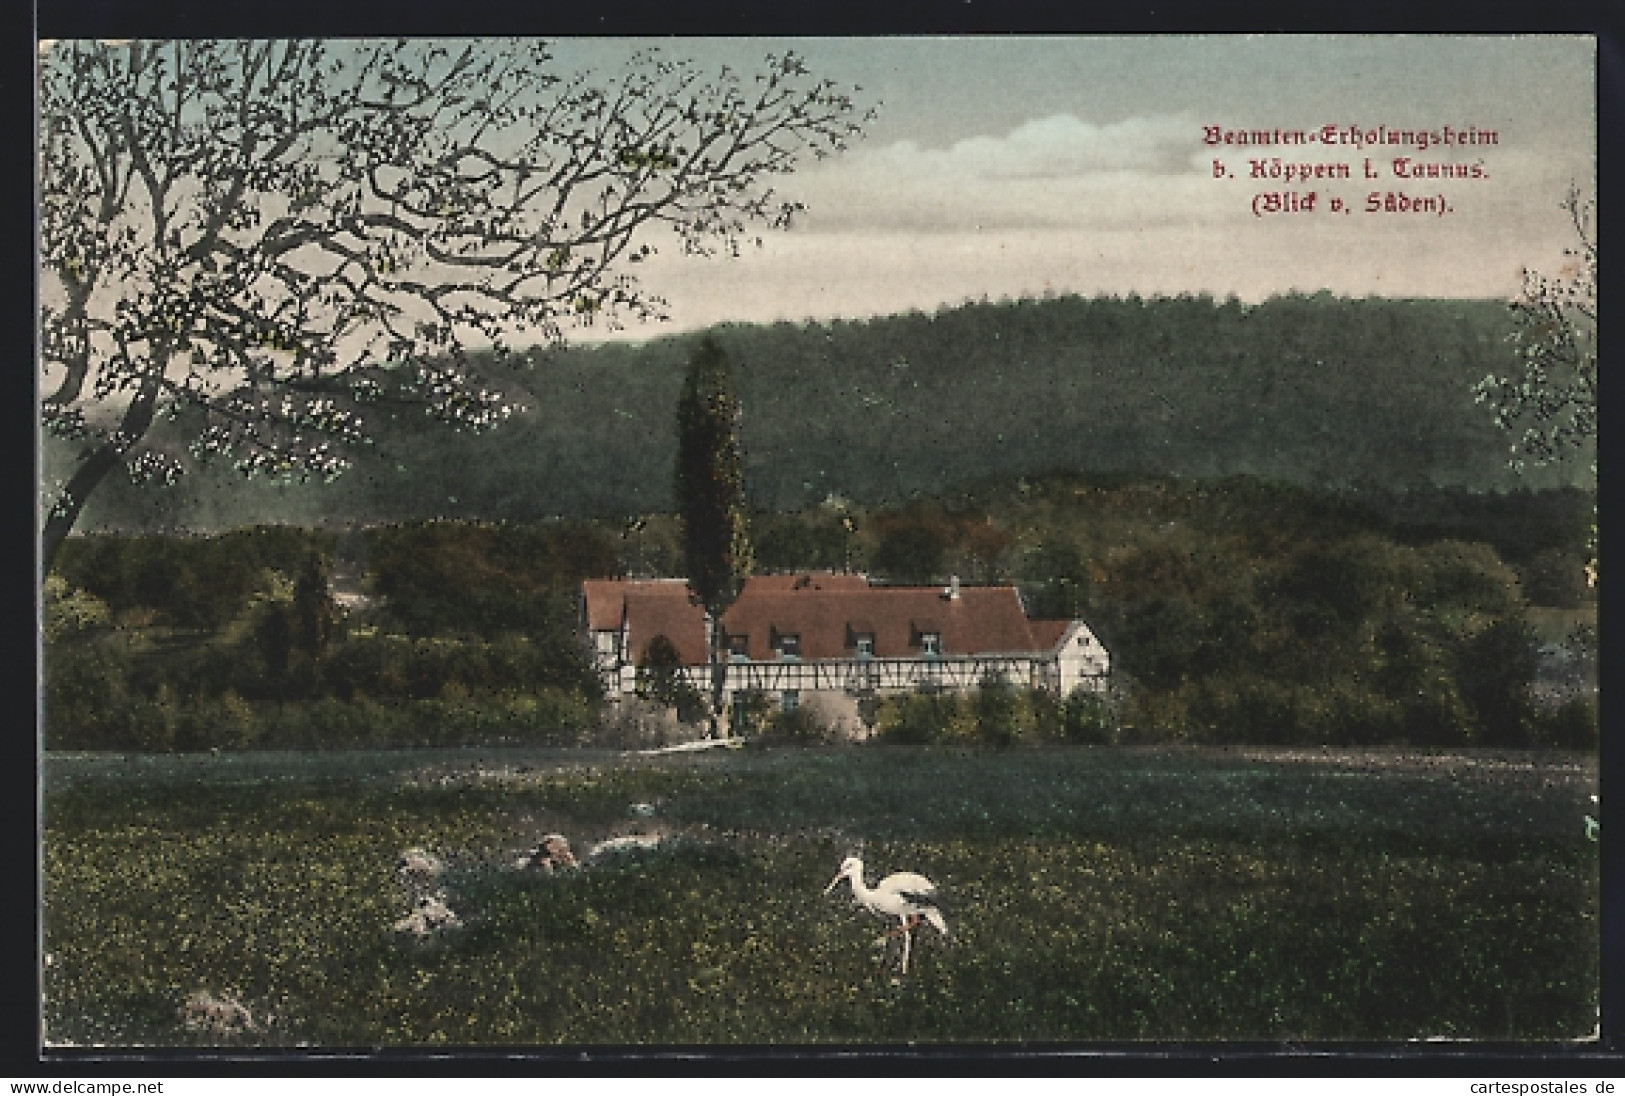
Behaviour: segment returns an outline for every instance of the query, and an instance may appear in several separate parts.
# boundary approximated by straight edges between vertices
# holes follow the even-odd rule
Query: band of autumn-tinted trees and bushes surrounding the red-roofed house
[[[752,533],[769,571],[1014,582],[1113,652],[1108,706],[994,681],[879,702],[881,740],[1591,746],[1591,507],[1056,473],[760,512]],[[574,595],[678,558],[661,514],[73,538],[46,590],[47,743],[624,745]],[[795,714],[762,730],[821,735]]]

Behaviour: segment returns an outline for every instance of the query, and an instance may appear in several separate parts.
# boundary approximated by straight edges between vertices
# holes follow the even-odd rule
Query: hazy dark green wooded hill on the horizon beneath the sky
[[[882,502],[1043,470],[1253,473],[1315,486],[1547,486],[1471,387],[1511,366],[1493,301],[1058,298],[864,322],[730,325],[756,504]],[[533,410],[486,436],[385,423],[335,485],[109,483],[83,528],[528,520],[671,506],[674,403],[696,337],[535,354]],[[49,455],[49,454],[47,454]],[[47,468],[49,475],[49,468]]]

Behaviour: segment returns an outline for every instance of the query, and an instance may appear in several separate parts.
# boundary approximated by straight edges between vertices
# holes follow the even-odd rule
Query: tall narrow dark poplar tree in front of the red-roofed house
[[[678,400],[676,501],[682,517],[689,594],[705,608],[712,624],[713,738],[722,720],[728,670],[722,615],[739,597],[752,561],[738,428],[739,400],[733,394],[728,356],[707,335],[689,358]]]

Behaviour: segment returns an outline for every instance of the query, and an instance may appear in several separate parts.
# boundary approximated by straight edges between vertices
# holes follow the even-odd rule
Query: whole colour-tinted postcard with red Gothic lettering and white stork
[[[1597,1046],[1596,63],[41,41],[42,1054]]]

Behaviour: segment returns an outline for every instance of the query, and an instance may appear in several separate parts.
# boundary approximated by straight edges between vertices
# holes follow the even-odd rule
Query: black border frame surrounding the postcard
[[[257,37],[257,36],[892,36],[892,34],[1591,34],[1597,41],[1597,200],[1599,231],[1614,239],[1610,213],[1625,195],[1625,5],[1612,0],[1454,0],[1424,10],[1414,0],[1347,0],[1341,5],[1300,0],[1121,0],[1110,7],[1064,0],[902,0],[900,3],[765,5],[733,0],[608,0],[559,3],[557,0],[36,0],[32,11],[15,5],[6,15],[18,23],[0,57],[6,132],[18,141],[13,164],[23,176],[32,210],[32,67],[37,37]],[[21,18],[20,18],[21,16]],[[28,20],[29,26],[21,26]],[[8,252],[23,275],[6,294],[11,332],[34,328],[34,233],[32,218],[15,216]],[[1607,249],[1612,254],[1612,247]],[[1602,276],[1602,311],[1625,299],[1625,280]],[[21,291],[28,286],[28,293]],[[1618,403],[1625,382],[1610,382],[1614,341],[1602,340],[1602,405]],[[32,340],[29,338],[32,348]],[[18,371],[21,372],[21,369]],[[32,379],[32,371],[29,372]],[[21,381],[16,382],[21,387]],[[13,501],[18,517],[3,527],[10,540],[6,558],[13,576],[5,584],[0,608],[8,637],[6,670],[15,675],[8,696],[15,701],[5,720],[5,789],[0,810],[5,878],[15,907],[39,907],[36,813],[36,706],[37,706],[37,537],[34,509],[37,467],[32,398],[6,405],[11,429],[0,441],[15,452],[8,467],[26,468],[16,476]],[[1612,475],[1614,447],[1604,431],[1599,446],[1599,481]],[[1620,522],[1601,507],[1602,569],[1620,553]],[[23,561],[28,561],[23,566]],[[1610,581],[1602,587],[1599,613],[1618,616],[1625,602]],[[15,629],[15,633],[13,633]],[[1602,678],[1615,663],[1612,634],[1601,629]],[[1609,694],[1607,689],[1604,689]],[[1601,784],[1620,784],[1625,743],[1615,707],[1602,701]],[[13,756],[15,755],[15,756]],[[967,1076],[967,1075],[1118,1075],[1118,1076],[1620,1076],[1625,1075],[1625,807],[1602,795],[1602,1039],[1597,1044],[1113,1044],[1113,1046],[855,1046],[855,1047],[567,1047],[567,1049],[471,1049],[416,1052],[390,1049],[268,1050],[268,1052],[164,1052],[164,1050],[50,1050],[37,1041],[39,972],[34,948],[37,919],[28,946],[18,946],[21,925],[0,948],[0,1075],[15,1078],[174,1076],[210,1078],[254,1073],[257,1076]],[[31,841],[24,841],[29,834]]]

